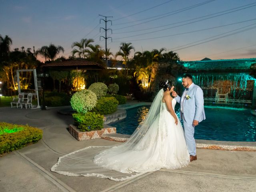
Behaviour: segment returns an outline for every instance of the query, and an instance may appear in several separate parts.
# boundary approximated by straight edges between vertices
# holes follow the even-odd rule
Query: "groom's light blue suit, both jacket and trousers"
[[[186,95],[190,98],[186,99]],[[193,121],[205,120],[204,94],[202,89],[194,83],[188,89],[187,94],[177,96],[175,100],[181,104],[183,101],[183,112],[180,111],[180,120],[183,120],[184,134],[190,155],[196,155],[196,141],[194,138],[195,127]]]

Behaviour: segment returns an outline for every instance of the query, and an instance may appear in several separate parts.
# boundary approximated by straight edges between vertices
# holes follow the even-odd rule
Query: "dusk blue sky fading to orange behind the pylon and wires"
[[[166,48],[184,61],[256,58],[256,0],[0,0],[0,34],[12,38],[12,49],[38,49],[50,43],[64,47],[93,38],[105,49],[132,42],[136,51]],[[240,10],[239,10],[240,9]],[[230,12],[230,13],[228,13]],[[165,26],[164,26],[165,25]],[[38,58],[43,60],[42,58]]]

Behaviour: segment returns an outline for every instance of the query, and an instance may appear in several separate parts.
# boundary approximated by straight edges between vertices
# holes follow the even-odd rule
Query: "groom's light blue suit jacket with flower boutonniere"
[[[193,124],[193,120],[197,120],[199,122],[205,120],[203,90],[193,83],[188,89],[187,95],[190,96],[190,98],[185,98],[183,102],[183,116],[186,122],[188,124]],[[177,96],[175,99],[180,104],[183,97]],[[182,120],[181,111],[180,120]]]

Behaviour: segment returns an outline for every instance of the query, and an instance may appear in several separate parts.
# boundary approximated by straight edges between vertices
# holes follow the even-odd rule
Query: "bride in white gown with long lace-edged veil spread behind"
[[[99,176],[122,181],[159,170],[188,165],[190,156],[180,120],[170,96],[171,82],[161,88],[129,140],[114,147],[90,146],[58,159],[51,170],[68,176]]]

